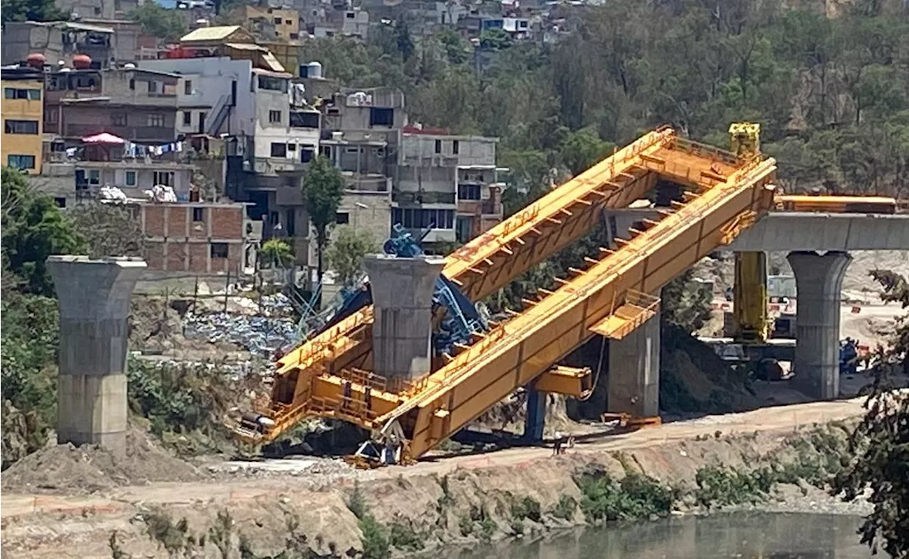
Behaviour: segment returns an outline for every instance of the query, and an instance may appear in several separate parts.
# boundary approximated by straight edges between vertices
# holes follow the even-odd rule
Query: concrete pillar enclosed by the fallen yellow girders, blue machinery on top
[[[429,372],[433,289],[445,259],[369,255],[364,260],[373,292],[373,365],[385,378],[418,378]]]

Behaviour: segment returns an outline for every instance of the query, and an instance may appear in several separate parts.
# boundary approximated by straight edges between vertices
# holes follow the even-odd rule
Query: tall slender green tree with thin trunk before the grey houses
[[[315,248],[318,251],[316,273],[320,284],[324,272],[325,249],[344,191],[344,177],[325,156],[315,157],[306,166],[303,175],[303,202],[315,230]]]

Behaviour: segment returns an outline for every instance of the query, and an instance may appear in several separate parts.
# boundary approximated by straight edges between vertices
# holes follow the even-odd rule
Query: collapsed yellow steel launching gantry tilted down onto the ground
[[[486,231],[445,260],[443,275],[477,301],[580,239],[601,212],[628,206],[658,179],[692,189],[684,203],[644,221],[617,250],[600,249],[587,270],[559,279],[554,292],[474,343],[434,373],[393,383],[369,372],[372,308],[366,307],[288,353],[262,428],[238,427],[253,443],[273,440],[303,417],[337,417],[409,441],[420,456],[516,387],[534,378],[566,386],[574,373],[554,364],[584,340],[622,338],[657,311],[654,294],[707,253],[730,242],[774,202],[773,160],[738,158],[678,137],[649,132]],[[566,390],[568,390],[566,388]]]

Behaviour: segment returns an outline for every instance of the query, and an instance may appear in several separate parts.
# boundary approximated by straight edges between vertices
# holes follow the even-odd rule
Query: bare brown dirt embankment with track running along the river
[[[675,506],[690,509],[702,495],[695,477],[704,466],[742,472],[774,466],[791,473],[797,465],[806,476],[823,474],[845,431],[839,423],[820,431],[817,426],[861,413],[860,403],[852,401],[764,409],[593,437],[563,456],[546,448],[513,448],[331,475],[310,471],[233,481],[202,476],[191,483],[108,487],[78,498],[17,496],[15,491],[28,488],[8,485],[0,492],[0,544],[13,557],[109,557],[108,539],[116,532],[127,554],[165,556],[161,537],[188,533],[198,541],[205,534],[208,544],[194,556],[215,557],[221,555],[213,534],[221,534],[236,556],[242,539],[256,554],[291,549],[293,556],[368,557],[385,556],[371,555],[375,534],[384,534],[395,554],[542,534],[586,523],[583,507],[590,495],[578,481],[584,471],[651,476],[684,492]],[[790,487],[786,495],[810,489],[780,487]],[[773,500],[776,491],[771,493]],[[352,495],[359,495],[353,507],[359,519],[351,510]]]

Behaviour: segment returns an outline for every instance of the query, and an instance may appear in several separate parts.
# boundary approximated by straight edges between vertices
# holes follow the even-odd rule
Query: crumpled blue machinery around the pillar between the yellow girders
[[[430,226],[430,229],[432,225]],[[400,223],[396,223],[392,230],[392,236],[385,241],[383,250],[385,254],[394,254],[398,258],[414,258],[423,255],[423,249],[420,248],[419,241],[423,240],[429,232],[427,229],[419,240],[415,240]],[[345,288],[339,295],[341,301],[332,316],[325,320],[325,324],[318,328],[318,331],[331,328],[337,322],[354,314],[357,310],[373,303],[373,296],[369,290],[369,283],[364,282],[360,287],[355,289]],[[484,319],[476,311],[474,304],[470,299],[464,297],[464,293],[445,276],[439,276],[435,280],[435,291],[433,294],[435,305],[445,307],[445,318],[439,325],[437,332],[433,334],[433,344],[435,351],[439,354],[452,354],[454,344],[471,343],[470,336],[477,331],[486,329]],[[304,332],[301,332],[304,334]]]

